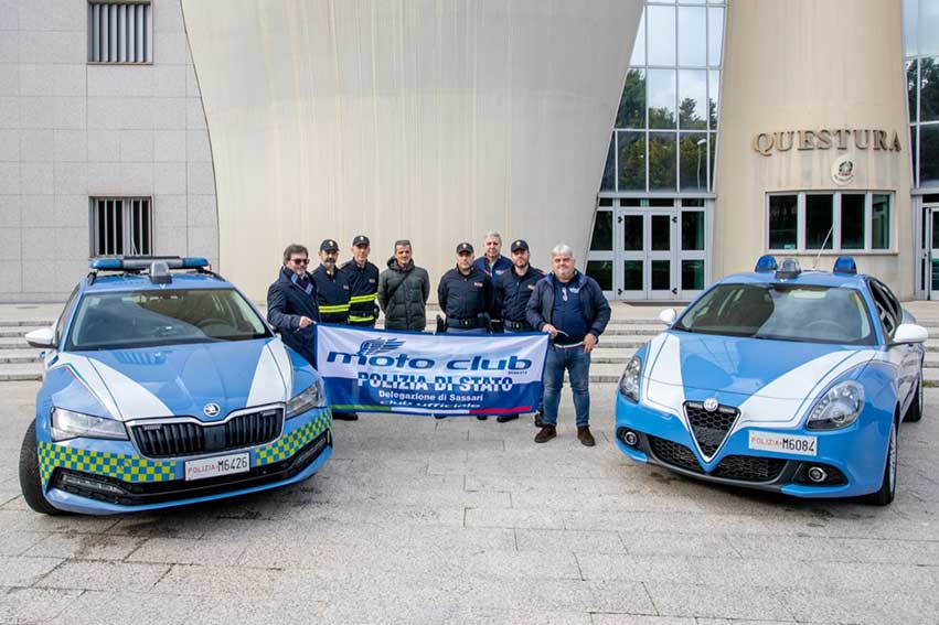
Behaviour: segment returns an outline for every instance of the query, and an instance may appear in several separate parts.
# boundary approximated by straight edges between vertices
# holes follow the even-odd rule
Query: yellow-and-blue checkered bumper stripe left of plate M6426
[[[168,482],[177,479],[178,462],[159,462],[121,453],[83,450],[40,441],[39,468],[42,484],[49,484],[55,468],[71,468],[107,475],[124,482]]]

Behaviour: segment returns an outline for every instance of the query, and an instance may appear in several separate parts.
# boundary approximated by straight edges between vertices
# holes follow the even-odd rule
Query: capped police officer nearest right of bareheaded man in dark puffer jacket
[[[492,280],[473,266],[473,249],[468,243],[457,246],[457,266],[440,278],[437,302],[447,315],[446,332],[488,334],[494,301]],[[442,416],[437,414],[438,419]],[[484,421],[487,417],[478,416]]]

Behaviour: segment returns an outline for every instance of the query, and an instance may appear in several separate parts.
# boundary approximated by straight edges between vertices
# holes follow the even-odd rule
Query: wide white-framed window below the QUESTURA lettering
[[[811,254],[893,249],[890,193],[773,193],[766,204],[770,250]]]

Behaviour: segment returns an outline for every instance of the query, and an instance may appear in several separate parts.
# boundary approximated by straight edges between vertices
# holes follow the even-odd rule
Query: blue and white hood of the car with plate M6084
[[[708,397],[743,420],[791,424],[836,379],[877,357],[871,347],[669,331],[650,341],[643,401],[675,414]]]

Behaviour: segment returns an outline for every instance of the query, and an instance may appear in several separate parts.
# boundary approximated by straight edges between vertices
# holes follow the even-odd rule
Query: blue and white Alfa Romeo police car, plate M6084
[[[690,477],[799,497],[896,492],[897,433],[922,416],[924,327],[850,257],[762,257],[707,289],[620,379],[617,445]]]

